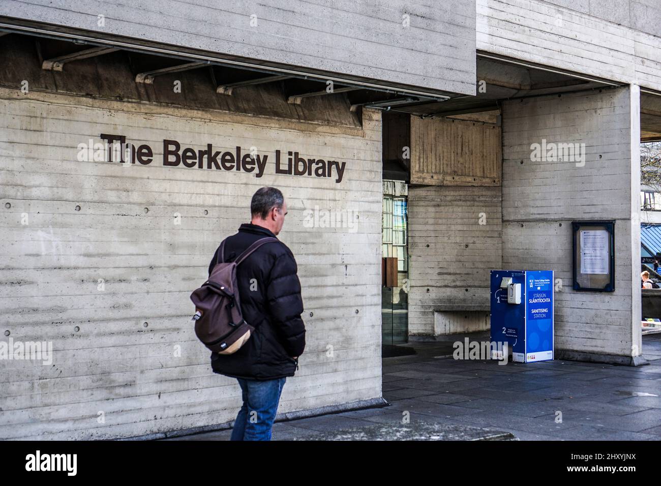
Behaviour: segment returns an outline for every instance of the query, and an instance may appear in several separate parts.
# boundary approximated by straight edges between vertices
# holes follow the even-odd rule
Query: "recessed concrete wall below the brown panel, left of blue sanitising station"
[[[501,266],[500,191],[500,186],[409,186],[410,335],[484,327],[489,270]],[[435,310],[446,312],[437,316],[436,326]]]

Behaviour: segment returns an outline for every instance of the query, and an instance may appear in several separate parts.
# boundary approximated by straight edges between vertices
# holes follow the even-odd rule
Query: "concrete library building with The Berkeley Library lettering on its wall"
[[[0,361],[0,438],[233,420],[189,296],[264,185],[304,289],[283,415],[382,403],[382,344],[487,329],[490,269],[555,270],[557,357],[639,364],[660,20],[654,0],[1,0],[0,339],[53,350]],[[613,292],[572,290],[593,220],[615,222]]]

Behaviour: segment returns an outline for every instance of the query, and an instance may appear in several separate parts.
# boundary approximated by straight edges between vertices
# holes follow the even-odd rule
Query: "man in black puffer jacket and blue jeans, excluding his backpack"
[[[282,192],[262,187],[251,201],[251,222],[225,240],[225,262],[234,261],[254,241],[276,237],[287,214]],[[219,261],[220,246],[209,264]],[[296,261],[282,242],[265,243],[237,267],[241,311],[255,327],[247,343],[233,354],[212,352],[215,373],[239,380],[243,406],[230,440],[270,440],[280,394],[287,377],[298,368],[305,348],[303,301]]]

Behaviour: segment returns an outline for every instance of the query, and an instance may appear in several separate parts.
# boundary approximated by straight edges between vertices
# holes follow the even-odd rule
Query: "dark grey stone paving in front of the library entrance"
[[[488,333],[467,336],[488,340]],[[506,432],[518,440],[661,440],[661,335],[643,337],[650,364],[637,367],[453,360],[452,343],[463,337],[408,343],[416,354],[383,358],[389,406],[278,422],[272,440],[411,440],[416,432],[428,440],[511,440]],[[229,440],[230,433],[169,440]]]

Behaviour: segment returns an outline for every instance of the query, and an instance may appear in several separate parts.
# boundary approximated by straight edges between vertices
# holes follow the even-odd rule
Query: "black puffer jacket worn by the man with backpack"
[[[264,227],[243,223],[225,241],[225,261],[234,261],[254,241],[269,236],[275,237]],[[209,264],[209,274],[219,249]],[[212,352],[215,373],[254,380],[294,375],[298,359],[293,356],[301,356],[305,348],[303,300],[296,272],[292,251],[280,241],[262,245],[237,267],[243,319],[256,329],[237,352]]]

